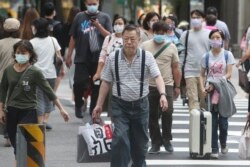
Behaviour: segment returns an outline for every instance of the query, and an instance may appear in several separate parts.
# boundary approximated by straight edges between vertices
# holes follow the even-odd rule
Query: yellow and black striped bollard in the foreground
[[[45,167],[45,126],[19,124],[17,127],[17,167]]]

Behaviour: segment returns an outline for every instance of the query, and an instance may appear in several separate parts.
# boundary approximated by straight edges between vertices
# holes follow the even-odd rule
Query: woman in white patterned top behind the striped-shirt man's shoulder
[[[123,46],[122,32],[124,26],[126,25],[126,19],[123,18],[122,16],[117,16],[114,18],[112,25],[114,33],[108,35],[103,42],[102,50],[99,57],[98,67],[93,77],[93,81],[100,79],[101,72],[106,61],[106,57],[111,52],[115,51],[117,48],[121,48]]]

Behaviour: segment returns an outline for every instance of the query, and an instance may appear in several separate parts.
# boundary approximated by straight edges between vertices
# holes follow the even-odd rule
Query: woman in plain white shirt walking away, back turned
[[[38,61],[35,63],[35,66],[42,71],[44,77],[53,89],[57,77],[54,55],[55,52],[60,54],[61,47],[56,38],[49,36],[48,25],[48,21],[44,18],[34,20],[32,24],[34,38],[31,39],[30,42],[38,56]],[[37,100],[38,122],[44,123],[46,129],[52,129],[51,126],[47,124],[50,112],[55,110],[52,102],[49,101],[48,97],[39,88],[37,88]]]

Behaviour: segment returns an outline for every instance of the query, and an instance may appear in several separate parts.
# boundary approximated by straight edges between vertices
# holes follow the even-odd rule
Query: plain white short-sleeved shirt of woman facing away
[[[52,43],[53,40],[53,43]],[[45,78],[52,79],[56,78],[56,69],[54,65],[55,50],[60,51],[61,47],[58,44],[56,38],[45,37],[45,38],[33,38],[30,40],[37,54],[38,60],[35,66],[38,67]]]

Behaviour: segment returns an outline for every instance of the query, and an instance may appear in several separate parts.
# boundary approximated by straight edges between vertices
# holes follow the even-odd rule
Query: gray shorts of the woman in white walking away
[[[47,79],[51,88],[53,89],[55,86],[56,79]],[[55,106],[53,102],[47,97],[47,95],[43,92],[42,89],[37,87],[37,115],[42,116],[45,113],[50,113],[55,110]]]

